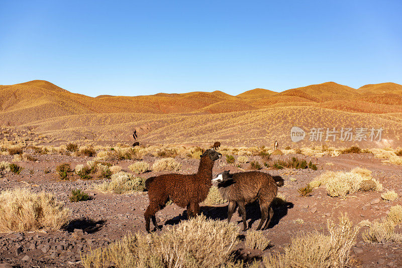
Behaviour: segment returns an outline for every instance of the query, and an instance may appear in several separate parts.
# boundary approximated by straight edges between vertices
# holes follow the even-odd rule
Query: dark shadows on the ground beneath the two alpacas
[[[291,202],[282,202],[280,204],[276,204],[275,206],[272,206],[274,214],[272,217],[271,222],[269,223],[268,228],[272,228],[276,224],[279,223],[279,220],[283,218],[284,216],[287,215],[287,210],[290,208],[293,208],[293,203]],[[212,219],[212,220],[227,220],[228,219],[228,206],[223,206],[223,207],[211,207],[211,206],[202,206],[200,207],[201,213],[203,213],[207,219]],[[247,214],[247,220],[250,219],[248,222],[248,228],[251,228],[253,223],[257,220],[261,219],[261,211],[260,211],[260,206],[258,204],[258,201],[246,205],[246,214]],[[187,211],[183,211],[182,214],[179,214],[178,216],[171,218],[165,222],[165,225],[175,225],[180,223],[182,220],[186,220],[187,218]],[[241,223],[242,221],[238,221],[238,223]]]

